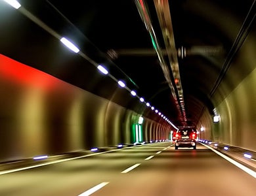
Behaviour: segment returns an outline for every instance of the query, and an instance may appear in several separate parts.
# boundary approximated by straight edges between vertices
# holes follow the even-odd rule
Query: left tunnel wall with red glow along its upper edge
[[[142,116],[3,55],[0,92],[0,162],[130,144]],[[143,140],[168,129],[144,118]]]

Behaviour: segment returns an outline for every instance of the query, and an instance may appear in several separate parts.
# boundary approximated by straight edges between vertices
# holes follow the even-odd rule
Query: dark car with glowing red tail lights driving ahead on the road
[[[175,134],[175,150],[181,148],[194,148],[196,150],[196,129],[194,127],[180,127]]]

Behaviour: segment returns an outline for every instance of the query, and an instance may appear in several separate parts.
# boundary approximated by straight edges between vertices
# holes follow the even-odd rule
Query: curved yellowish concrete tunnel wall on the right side
[[[256,151],[256,27],[253,27],[212,97],[220,122],[213,123],[213,116],[205,110],[198,129],[205,127],[200,131],[202,139]]]

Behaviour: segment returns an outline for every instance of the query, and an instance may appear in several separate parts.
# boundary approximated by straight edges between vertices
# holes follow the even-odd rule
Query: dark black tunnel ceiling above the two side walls
[[[113,76],[123,79],[130,89],[135,89],[176,125],[184,125],[185,121],[195,125],[203,110],[212,113],[211,97],[228,69],[228,54],[238,47],[236,38],[254,3],[248,0],[19,2],[25,11],[14,10],[3,1],[0,4],[1,54],[94,93],[98,91],[88,82],[85,84],[85,78],[97,80],[98,86],[106,85],[111,78],[92,78],[95,67],[90,64],[106,65]],[[60,49],[58,36],[54,35],[77,43],[86,57]],[[175,50],[167,50],[170,45]],[[175,59],[179,72],[174,76],[171,66]],[[180,92],[185,115],[181,112]],[[104,96],[107,91],[100,93]]]

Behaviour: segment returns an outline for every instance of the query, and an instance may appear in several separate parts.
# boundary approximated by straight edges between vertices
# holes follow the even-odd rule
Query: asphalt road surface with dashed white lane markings
[[[157,142],[1,174],[0,195],[255,196],[256,178],[201,144]]]

